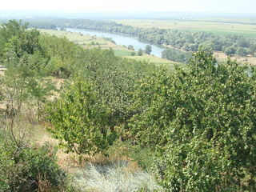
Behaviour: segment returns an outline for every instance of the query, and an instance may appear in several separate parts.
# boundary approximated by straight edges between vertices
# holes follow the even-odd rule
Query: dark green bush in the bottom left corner
[[[55,152],[47,145],[18,150],[4,146],[0,154],[3,157],[0,160],[0,191],[36,191],[40,187],[53,190],[64,185],[66,174],[58,166]]]

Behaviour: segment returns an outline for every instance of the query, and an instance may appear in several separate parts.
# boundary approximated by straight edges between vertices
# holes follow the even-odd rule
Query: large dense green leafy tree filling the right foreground
[[[155,151],[167,191],[254,188],[255,74],[246,70],[200,51],[189,69],[162,70],[139,83],[130,130]]]

